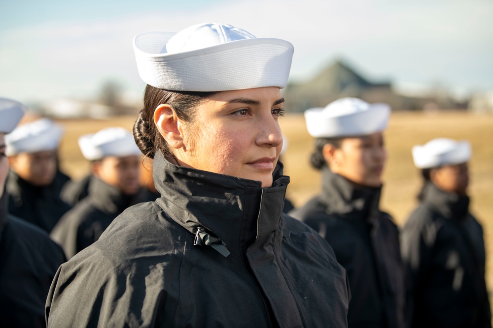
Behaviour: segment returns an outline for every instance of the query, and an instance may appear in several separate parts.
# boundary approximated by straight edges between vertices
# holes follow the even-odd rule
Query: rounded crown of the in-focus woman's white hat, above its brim
[[[255,36],[246,30],[228,24],[198,24],[176,33],[165,45],[163,52],[176,54],[252,38]]]

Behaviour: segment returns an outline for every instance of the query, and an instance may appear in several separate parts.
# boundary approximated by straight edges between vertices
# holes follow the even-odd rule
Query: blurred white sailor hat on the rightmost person
[[[414,165],[419,169],[465,163],[471,158],[471,154],[471,145],[465,140],[437,138],[423,146],[413,147]]]

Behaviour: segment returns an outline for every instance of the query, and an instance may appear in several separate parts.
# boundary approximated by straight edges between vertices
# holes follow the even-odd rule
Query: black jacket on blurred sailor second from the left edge
[[[48,233],[71,208],[60,198],[56,183],[37,187],[12,170],[8,173],[5,190],[8,193],[8,212]]]

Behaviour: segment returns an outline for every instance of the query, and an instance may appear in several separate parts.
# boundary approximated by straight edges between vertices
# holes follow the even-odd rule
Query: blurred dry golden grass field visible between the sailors
[[[89,164],[82,157],[77,138],[107,126],[132,128],[134,117],[107,120],[61,120],[66,134],[61,147],[62,169],[73,179],[87,174]],[[285,174],[291,177],[288,197],[301,206],[320,191],[320,175],[309,165],[313,140],[305,128],[302,115],[281,119],[282,132],[288,139],[283,155]],[[493,116],[464,112],[393,113],[385,133],[388,162],[385,170],[382,209],[402,225],[416,205],[421,178],[411,157],[411,147],[436,137],[467,139],[473,148],[470,162],[472,212],[483,224],[488,251],[487,279],[493,291]]]

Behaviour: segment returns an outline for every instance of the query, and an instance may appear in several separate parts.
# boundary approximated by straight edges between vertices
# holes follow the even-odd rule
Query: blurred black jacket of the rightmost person
[[[412,272],[413,327],[491,327],[483,229],[469,198],[428,183],[402,231]]]

